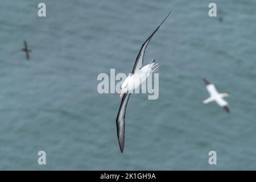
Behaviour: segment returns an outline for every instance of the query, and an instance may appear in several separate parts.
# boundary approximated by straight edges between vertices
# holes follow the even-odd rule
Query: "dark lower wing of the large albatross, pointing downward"
[[[119,142],[119,147],[121,152],[123,152],[123,147],[125,145],[125,110],[130,97],[130,93],[125,93],[123,95],[121,105],[117,114],[117,137]]]

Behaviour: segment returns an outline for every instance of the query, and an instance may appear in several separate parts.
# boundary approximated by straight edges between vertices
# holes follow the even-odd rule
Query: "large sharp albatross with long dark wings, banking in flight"
[[[166,16],[166,18],[164,18],[163,22],[170,14],[171,12]],[[133,90],[137,89],[139,85],[141,85],[144,81],[146,81],[146,78],[150,75],[150,73],[158,70],[158,64],[155,63],[155,59],[153,59],[149,64],[145,65],[144,67],[142,65],[145,49],[147,48],[148,43],[152,39],[155,32],[158,31],[159,27],[163,24],[163,22],[159,24],[155,31],[142,44],[138,56],[136,57],[131,75],[129,75],[121,85],[122,90],[120,98],[122,99],[122,101],[117,114],[117,119],[115,120],[117,122],[117,137],[121,152],[123,152],[123,147],[125,145],[125,111],[130,97],[130,93]]]

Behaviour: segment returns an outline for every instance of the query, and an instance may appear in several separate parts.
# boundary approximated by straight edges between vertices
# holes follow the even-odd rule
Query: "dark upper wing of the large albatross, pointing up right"
[[[163,22],[167,19],[167,17],[172,13],[172,11],[166,16],[166,18],[164,18]],[[142,44],[141,50],[139,50],[138,56],[136,57],[135,60],[135,64],[133,67],[133,71],[131,73],[134,73],[137,69],[140,69],[142,67],[143,64],[143,56],[144,56],[144,52],[147,48],[147,44],[150,42],[151,38],[153,37],[153,35],[155,34],[156,31],[158,31],[158,28],[163,24],[160,23],[159,26],[156,28],[156,30],[150,35],[149,38],[147,38],[146,42],[144,42]]]

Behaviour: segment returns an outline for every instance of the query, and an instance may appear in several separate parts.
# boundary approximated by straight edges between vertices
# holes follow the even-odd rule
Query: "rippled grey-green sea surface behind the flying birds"
[[[210,2],[1,0],[0,169],[256,169],[256,1],[216,0],[217,17]],[[130,73],[170,10],[144,56],[159,63],[159,98],[131,95],[121,154],[121,101],[97,76]],[[230,114],[202,103],[204,77],[230,94]]]

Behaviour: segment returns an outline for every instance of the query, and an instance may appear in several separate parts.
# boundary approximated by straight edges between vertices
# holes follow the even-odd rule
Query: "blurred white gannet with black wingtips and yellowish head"
[[[215,101],[219,106],[221,106],[225,111],[229,113],[228,102],[226,102],[223,98],[228,97],[227,93],[218,93],[215,86],[211,84],[207,79],[204,78],[205,85],[210,94],[210,97],[203,101],[204,104],[208,104],[209,102]]]

